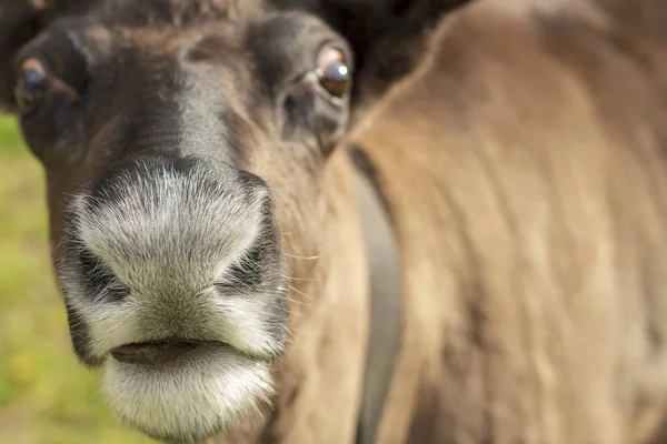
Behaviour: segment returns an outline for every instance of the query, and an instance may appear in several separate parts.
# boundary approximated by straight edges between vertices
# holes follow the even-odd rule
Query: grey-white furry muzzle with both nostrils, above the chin
[[[82,189],[71,213],[62,281],[83,361],[283,350],[285,260],[261,179],[203,160],[143,160]]]

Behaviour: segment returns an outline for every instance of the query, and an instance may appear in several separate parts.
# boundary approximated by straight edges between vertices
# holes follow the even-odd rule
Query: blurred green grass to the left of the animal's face
[[[152,443],[110,414],[71,351],[46,208],[39,163],[0,118],[0,444]]]

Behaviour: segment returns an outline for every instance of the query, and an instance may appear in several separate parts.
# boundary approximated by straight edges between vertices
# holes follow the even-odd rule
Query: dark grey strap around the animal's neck
[[[400,347],[401,290],[398,246],[375,181],[359,149],[351,151],[355,191],[370,272],[370,330],[357,444],[375,444]]]

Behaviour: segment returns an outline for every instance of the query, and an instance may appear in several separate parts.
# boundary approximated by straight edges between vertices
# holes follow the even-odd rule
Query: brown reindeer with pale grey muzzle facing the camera
[[[659,0],[0,3],[78,357],[167,442],[643,444],[667,400]],[[372,377],[372,374],[370,375]]]

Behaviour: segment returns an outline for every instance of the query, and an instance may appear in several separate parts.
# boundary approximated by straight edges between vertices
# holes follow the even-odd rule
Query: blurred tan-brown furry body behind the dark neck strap
[[[645,442],[667,383],[664,42],[491,1],[458,18],[359,137],[409,264],[380,442]]]

